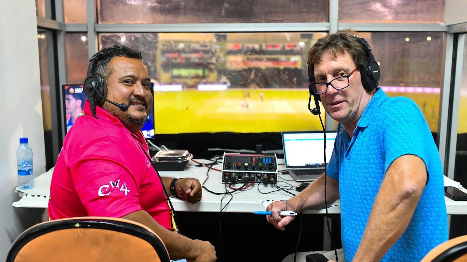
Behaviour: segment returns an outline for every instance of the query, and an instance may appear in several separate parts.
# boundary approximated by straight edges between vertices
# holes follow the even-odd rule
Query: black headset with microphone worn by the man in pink
[[[99,51],[95,55],[93,55],[91,59],[89,59],[87,76],[85,83],[83,84],[83,91],[86,94],[86,97],[88,97],[89,104],[91,105],[92,116],[96,118],[99,118],[96,116],[96,105],[102,105],[102,103],[104,103],[104,100],[115,106],[118,106],[121,111],[125,112],[128,110],[127,104],[115,103],[113,101],[108,100],[104,96],[105,80],[99,72],[93,72],[94,64],[97,63],[103,55],[104,54],[101,51]]]

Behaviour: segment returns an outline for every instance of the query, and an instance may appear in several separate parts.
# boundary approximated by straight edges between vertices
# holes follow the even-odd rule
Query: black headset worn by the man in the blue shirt
[[[360,36],[354,35],[354,37],[359,43],[361,43],[363,49],[365,50],[365,53],[367,54],[367,62],[365,63],[365,65],[358,66],[361,76],[361,83],[363,84],[363,88],[365,88],[365,90],[374,90],[378,85],[378,80],[380,79],[381,74],[378,62],[376,62],[375,56],[373,55],[373,53],[371,53],[371,47],[368,45],[368,42]],[[308,89],[310,91],[310,98],[308,99],[308,110],[310,110],[310,112],[316,116],[321,113],[318,103],[318,101],[321,101],[321,98],[311,89],[311,85],[314,82],[315,76],[313,65],[310,63],[310,61],[308,61]],[[313,96],[315,101],[315,108],[313,109],[311,109],[310,107],[311,96]]]

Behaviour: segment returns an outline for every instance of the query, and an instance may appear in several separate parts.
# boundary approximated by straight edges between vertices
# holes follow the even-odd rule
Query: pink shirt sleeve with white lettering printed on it
[[[122,217],[143,209],[134,174],[138,170],[128,163],[132,158],[120,147],[125,142],[118,140],[92,140],[70,162],[71,178],[89,216]]]

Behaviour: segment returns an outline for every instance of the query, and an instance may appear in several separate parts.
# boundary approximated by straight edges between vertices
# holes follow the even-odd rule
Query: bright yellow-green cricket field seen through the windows
[[[430,129],[437,131],[439,94],[389,93],[388,95],[405,96],[416,101]],[[467,100],[466,97],[463,99]],[[466,102],[461,101],[460,112],[465,112]],[[158,134],[321,129],[318,117],[313,116],[307,109],[308,90],[306,89],[156,91],[154,104]],[[462,117],[466,118],[460,114],[460,118]],[[466,132],[466,125],[466,121],[460,121],[459,130]]]

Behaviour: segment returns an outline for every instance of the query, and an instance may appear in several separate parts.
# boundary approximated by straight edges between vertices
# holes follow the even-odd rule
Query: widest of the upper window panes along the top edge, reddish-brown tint
[[[327,0],[98,0],[98,5],[99,23],[109,24],[328,20]]]

